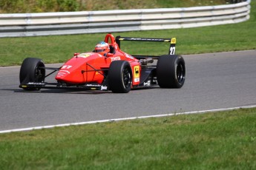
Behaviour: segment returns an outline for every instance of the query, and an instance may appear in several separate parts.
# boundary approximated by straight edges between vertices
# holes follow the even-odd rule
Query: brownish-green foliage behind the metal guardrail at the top
[[[230,0],[1,0],[0,13],[47,13],[83,10],[125,10],[229,4]]]

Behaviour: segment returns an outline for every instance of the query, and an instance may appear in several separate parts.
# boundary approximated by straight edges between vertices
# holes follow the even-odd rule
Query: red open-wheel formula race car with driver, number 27
[[[129,55],[120,50],[121,41],[169,42],[168,55]],[[186,78],[185,61],[175,55],[176,38],[131,38],[107,34],[93,52],[75,53],[60,68],[45,67],[39,58],[25,58],[20,69],[22,89],[96,89],[126,93],[131,89],[159,85],[180,88]],[[154,65],[157,60],[157,65]],[[52,70],[46,75],[46,69]],[[56,72],[56,82],[45,78]]]

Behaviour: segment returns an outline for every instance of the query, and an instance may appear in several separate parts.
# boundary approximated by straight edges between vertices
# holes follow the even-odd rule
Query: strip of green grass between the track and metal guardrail
[[[177,54],[203,52],[223,52],[256,49],[256,1],[252,1],[251,18],[239,24],[214,27],[198,27],[178,30],[152,30],[114,35],[177,38]],[[67,61],[74,52],[92,51],[105,33],[84,35],[59,35],[28,38],[0,38],[0,66],[22,64],[24,58],[42,58],[45,63]],[[168,44],[128,43],[122,50],[131,54],[163,55],[168,52]]]

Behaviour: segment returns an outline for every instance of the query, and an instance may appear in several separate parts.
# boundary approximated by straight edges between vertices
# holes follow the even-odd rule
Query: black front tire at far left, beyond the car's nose
[[[20,84],[29,82],[41,83],[45,81],[45,64],[39,58],[25,58],[19,72]],[[39,90],[38,87],[22,87],[27,90]]]

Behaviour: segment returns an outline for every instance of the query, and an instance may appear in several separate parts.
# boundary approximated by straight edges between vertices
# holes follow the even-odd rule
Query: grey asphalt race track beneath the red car
[[[256,105],[256,50],[184,55],[181,89],[99,91],[19,89],[19,68],[0,68],[0,131],[93,120]],[[52,78],[53,79],[53,78]]]

